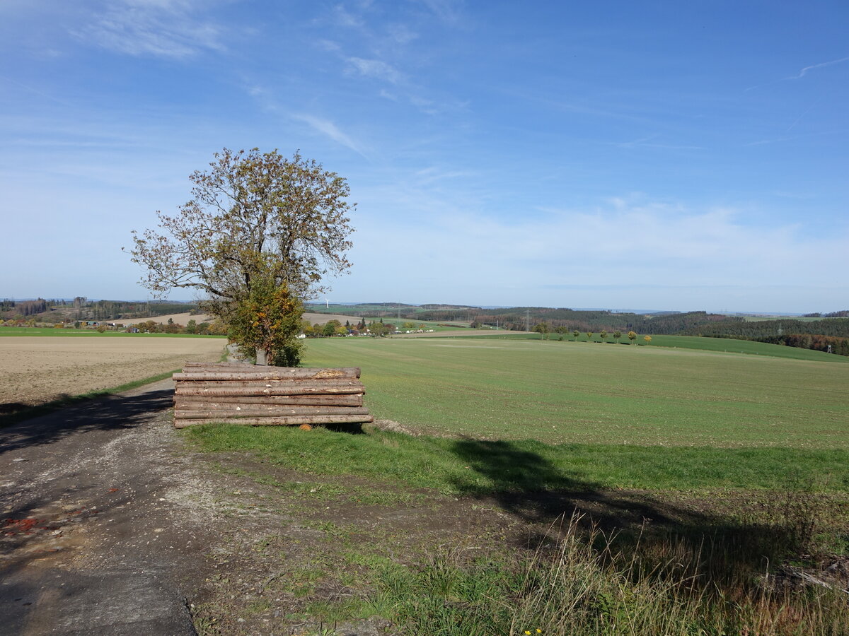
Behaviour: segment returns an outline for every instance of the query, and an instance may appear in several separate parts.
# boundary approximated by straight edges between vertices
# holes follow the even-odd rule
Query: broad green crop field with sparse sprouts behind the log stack
[[[362,367],[375,416],[437,434],[849,449],[843,364],[489,338],[329,338],[305,364]]]

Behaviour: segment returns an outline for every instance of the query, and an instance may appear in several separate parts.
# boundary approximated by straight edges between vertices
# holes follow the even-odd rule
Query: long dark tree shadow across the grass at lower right
[[[583,531],[602,532],[599,548],[638,553],[649,571],[664,572],[670,555],[685,550],[698,563],[699,577],[715,584],[739,581],[741,574],[762,575],[769,564],[801,554],[812,538],[802,527],[817,505],[812,493],[790,493],[786,505],[772,512],[767,507],[744,521],[722,500],[682,505],[660,493],[604,488],[570,477],[542,455],[509,441],[461,439],[452,451],[492,484],[484,491],[480,480],[458,480],[455,487],[531,524],[525,544],[531,550],[556,544],[569,520],[579,519]]]

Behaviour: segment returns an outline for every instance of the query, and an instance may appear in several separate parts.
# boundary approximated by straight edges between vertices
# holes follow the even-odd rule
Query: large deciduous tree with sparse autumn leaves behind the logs
[[[214,157],[189,176],[193,196],[176,215],[158,212],[158,231],[133,232],[132,260],[157,295],[183,287],[205,296],[243,352],[296,365],[303,300],[351,266],[350,188],[299,153],[224,148]]]

